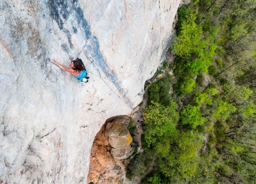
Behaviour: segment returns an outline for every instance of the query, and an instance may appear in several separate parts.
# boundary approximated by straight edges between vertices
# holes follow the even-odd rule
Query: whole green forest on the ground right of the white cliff
[[[255,3],[196,0],[178,9],[164,76],[148,84],[142,183],[255,183]]]

